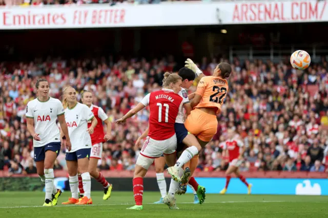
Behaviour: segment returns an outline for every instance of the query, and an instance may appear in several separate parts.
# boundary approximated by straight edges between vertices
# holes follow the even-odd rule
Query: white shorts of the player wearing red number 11
[[[142,146],[140,155],[146,158],[159,158],[162,154],[171,155],[176,150],[176,135],[166,140],[155,140],[147,136]]]

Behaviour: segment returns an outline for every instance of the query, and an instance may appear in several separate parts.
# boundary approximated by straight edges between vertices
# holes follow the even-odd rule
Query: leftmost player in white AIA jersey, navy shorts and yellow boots
[[[49,83],[38,79],[35,84],[37,98],[28,102],[25,117],[27,130],[33,137],[34,161],[37,174],[46,186],[46,198],[43,206],[57,204],[61,190],[54,186],[53,165],[60,151],[60,134],[56,119],[66,136],[66,147],[71,149],[71,141],[66,126],[64,108],[60,101],[49,97]],[[34,126],[33,126],[34,122]]]

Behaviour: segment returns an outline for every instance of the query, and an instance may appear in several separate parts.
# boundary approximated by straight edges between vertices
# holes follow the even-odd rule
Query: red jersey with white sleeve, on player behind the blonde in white
[[[94,117],[97,119],[97,125],[94,128],[93,134],[91,134],[92,145],[105,142],[104,137],[104,126],[103,121],[108,119],[107,114],[104,112],[103,108],[91,104],[90,110],[92,111]],[[91,126],[91,120],[88,122],[88,128]]]

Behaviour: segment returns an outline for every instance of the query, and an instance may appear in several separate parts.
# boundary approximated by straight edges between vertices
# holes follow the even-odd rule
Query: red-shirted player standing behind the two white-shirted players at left
[[[89,173],[90,175],[95,178],[101,185],[103,185],[104,188],[104,197],[103,200],[107,200],[111,197],[112,192],[112,184],[109,184],[105,177],[97,170],[97,164],[98,160],[101,159],[101,154],[103,153],[103,143],[110,140],[111,138],[111,122],[107,116],[107,114],[104,112],[104,110],[101,107],[97,107],[96,105],[92,104],[93,95],[90,91],[84,90],[81,94],[81,100],[84,104],[86,104],[90,110],[92,111],[93,115],[97,119],[97,125],[94,128],[94,133],[91,134],[91,143],[92,143],[92,149],[91,149],[91,155],[90,155],[90,161],[89,161]],[[107,133],[104,134],[104,126],[103,121],[107,125]],[[91,121],[88,122],[88,128],[91,126]],[[82,184],[82,178],[78,174],[78,188],[80,191],[80,199],[83,198],[84,190],[83,190],[83,184]]]

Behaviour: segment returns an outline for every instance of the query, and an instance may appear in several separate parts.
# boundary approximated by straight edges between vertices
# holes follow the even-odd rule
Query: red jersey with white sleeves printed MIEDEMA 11
[[[141,103],[150,108],[148,136],[155,140],[171,138],[175,134],[175,119],[183,103],[181,96],[173,90],[162,89],[149,93]]]

